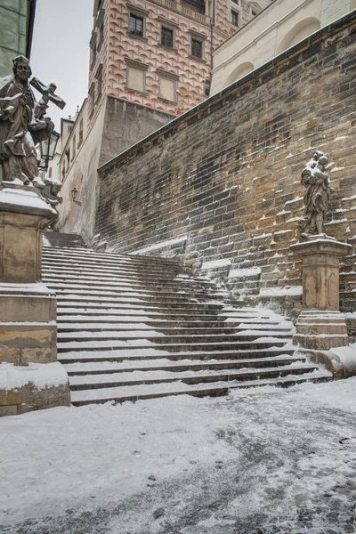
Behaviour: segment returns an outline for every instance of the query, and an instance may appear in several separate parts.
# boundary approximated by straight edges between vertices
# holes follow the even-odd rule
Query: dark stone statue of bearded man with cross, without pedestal
[[[38,175],[36,144],[53,132],[52,120],[44,117],[48,101],[61,108],[65,102],[54,94],[55,85],[46,87],[34,78],[33,85],[43,93],[36,102],[28,84],[31,74],[28,59],[20,55],[13,60],[13,74],[0,78],[0,163],[4,182],[32,184],[43,189],[44,182]]]

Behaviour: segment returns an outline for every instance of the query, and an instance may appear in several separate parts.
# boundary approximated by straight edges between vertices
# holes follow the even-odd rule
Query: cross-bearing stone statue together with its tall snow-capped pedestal
[[[55,85],[34,79],[29,84],[42,93],[36,102],[30,76],[28,60],[18,56],[13,75],[0,78],[0,417],[70,402],[68,376],[57,361],[56,295],[41,281],[43,231],[58,219],[61,182],[39,177],[36,152],[53,132],[48,102],[64,102]],[[37,383],[41,376],[45,384]]]

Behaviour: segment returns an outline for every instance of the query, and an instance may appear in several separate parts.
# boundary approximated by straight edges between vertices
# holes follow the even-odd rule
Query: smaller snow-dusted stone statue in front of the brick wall
[[[327,165],[328,158],[324,152],[317,150],[303,168],[301,182],[306,190],[303,197],[305,217],[298,224],[301,241],[312,239],[312,236],[328,237],[322,227],[334,189],[329,185]]]

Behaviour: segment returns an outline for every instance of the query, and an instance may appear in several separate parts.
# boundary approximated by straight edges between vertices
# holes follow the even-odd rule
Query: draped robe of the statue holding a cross
[[[38,175],[36,143],[53,130],[50,121],[44,129],[33,130],[36,124],[35,95],[28,83],[18,83],[14,76],[0,78],[0,162],[4,166],[4,180],[28,182]]]

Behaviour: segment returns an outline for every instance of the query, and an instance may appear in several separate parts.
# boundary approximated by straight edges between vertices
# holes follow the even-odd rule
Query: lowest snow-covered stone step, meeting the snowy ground
[[[104,403],[108,401],[125,402],[157,399],[169,395],[193,395],[196,397],[226,395],[233,388],[255,387],[263,385],[277,385],[287,387],[294,384],[301,384],[307,380],[321,382],[329,380],[330,376],[321,371],[306,373],[302,376],[280,376],[277,378],[266,378],[247,381],[231,381],[229,383],[214,384],[142,384],[138,386],[124,388],[103,388],[101,390],[83,390],[72,393],[72,403],[75,406],[83,406],[92,403]]]

